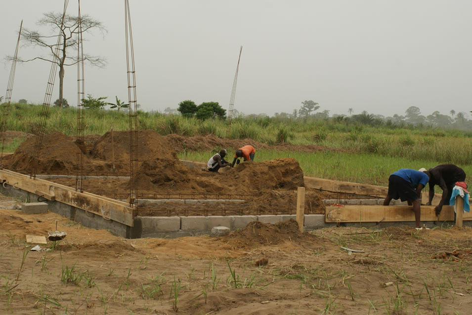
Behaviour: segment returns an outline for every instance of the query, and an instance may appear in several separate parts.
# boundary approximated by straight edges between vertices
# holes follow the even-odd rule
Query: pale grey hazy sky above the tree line
[[[77,15],[77,0],[68,14]],[[292,113],[304,100],[330,115],[404,115],[410,106],[472,110],[470,0],[129,0],[137,102],[144,110],[183,100],[227,109],[240,45],[234,108],[245,114]],[[2,1],[0,56],[12,55],[17,31],[38,29],[63,0]],[[84,50],[105,57],[86,66],[86,94],[127,100],[124,0],[81,0],[82,14],[108,33],[85,35]],[[56,34],[57,32],[54,32]],[[20,47],[20,57],[47,51]],[[3,61],[4,62],[4,61]],[[43,103],[50,63],[18,64],[12,100]],[[5,95],[10,63],[0,65]],[[58,76],[52,102],[58,98]],[[66,68],[64,97],[77,105],[77,67]]]

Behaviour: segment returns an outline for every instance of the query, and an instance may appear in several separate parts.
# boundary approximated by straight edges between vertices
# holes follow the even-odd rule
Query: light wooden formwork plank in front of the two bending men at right
[[[326,207],[325,222],[414,222],[413,206],[348,205]],[[472,220],[472,214],[464,214]],[[434,206],[421,206],[421,221],[437,221]],[[443,206],[439,221],[454,221],[452,206]]]

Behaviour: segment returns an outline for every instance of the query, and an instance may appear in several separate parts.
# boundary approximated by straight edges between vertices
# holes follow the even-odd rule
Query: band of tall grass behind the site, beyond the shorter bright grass
[[[40,124],[42,106],[12,104],[7,120],[7,130],[35,133]],[[45,131],[59,131],[67,135],[77,133],[77,109],[49,109]],[[129,130],[126,112],[116,110],[86,110],[85,132],[103,134],[112,127],[115,130]],[[178,134],[197,136],[215,134],[221,138],[254,139],[269,145],[320,145],[338,148],[363,159],[394,158],[407,164],[437,165],[454,163],[472,164],[472,131],[441,130],[430,127],[404,128],[397,126],[372,127],[354,125],[336,118],[329,119],[278,119],[278,118],[236,118],[227,133],[225,120],[199,120],[179,115],[162,115],[138,111],[139,128],[153,129],[161,135]],[[14,149],[17,141],[10,145]],[[9,148],[9,150],[10,150]],[[259,152],[259,151],[258,151]],[[284,155],[285,153],[281,153]],[[317,159],[319,154],[312,155]],[[341,157],[343,155],[336,154]],[[365,158],[370,157],[370,158]],[[417,162],[418,161],[418,162]],[[353,162],[353,161],[352,161]],[[308,163],[307,163],[308,164]],[[313,161],[316,164],[316,161]],[[307,166],[306,166],[307,167]],[[309,173],[311,171],[306,169]],[[316,173],[316,172],[313,172]]]

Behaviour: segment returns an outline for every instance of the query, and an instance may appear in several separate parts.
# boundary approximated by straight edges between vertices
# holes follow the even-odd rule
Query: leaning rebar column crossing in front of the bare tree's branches
[[[64,0],[64,12],[62,14],[62,21],[61,27],[59,30],[59,36],[57,37],[56,49],[52,59],[51,71],[49,72],[49,78],[46,84],[46,93],[44,94],[44,101],[43,101],[43,108],[41,109],[40,114],[40,125],[37,127],[36,130],[36,140],[35,140],[35,150],[33,152],[33,157],[31,158],[31,173],[30,178],[36,179],[36,173],[38,172],[38,164],[39,164],[39,157],[41,152],[41,146],[43,145],[43,137],[44,137],[44,129],[46,126],[46,119],[47,113],[49,112],[49,104],[51,103],[51,96],[52,90],[54,88],[54,80],[56,79],[56,69],[58,65],[58,56],[61,50],[61,40],[64,40],[65,45],[65,38],[63,39],[63,32],[62,27],[64,25],[64,17],[66,15],[67,5],[69,4],[69,0]],[[33,164],[33,165],[31,165]]]

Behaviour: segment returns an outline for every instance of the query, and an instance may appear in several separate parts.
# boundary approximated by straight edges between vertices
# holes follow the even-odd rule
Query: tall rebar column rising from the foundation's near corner
[[[126,29],[126,66],[128,76],[128,104],[129,104],[129,161],[130,161],[130,191],[129,206],[137,210],[138,189],[136,175],[138,172],[138,117],[136,106],[136,73],[134,70],[133,35],[131,30],[131,15],[129,1],[125,0],[125,29]]]

